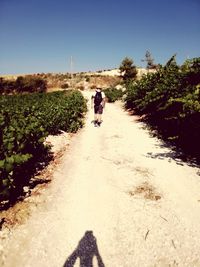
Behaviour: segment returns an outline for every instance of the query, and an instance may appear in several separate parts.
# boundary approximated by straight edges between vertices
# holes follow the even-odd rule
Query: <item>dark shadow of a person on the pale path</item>
[[[63,267],[73,267],[77,258],[80,258],[80,267],[93,267],[93,257],[97,258],[98,267],[105,267],[99,254],[97,241],[92,231],[86,231],[79,241],[77,248],[68,257]]]

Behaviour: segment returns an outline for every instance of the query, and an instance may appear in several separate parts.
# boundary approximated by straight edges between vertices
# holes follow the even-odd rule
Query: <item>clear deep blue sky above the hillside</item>
[[[0,0],[0,74],[165,64],[200,56],[200,0]]]

